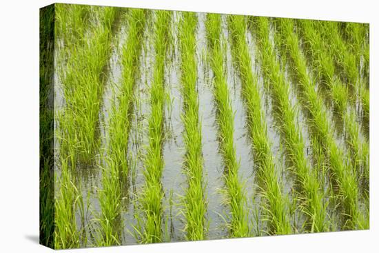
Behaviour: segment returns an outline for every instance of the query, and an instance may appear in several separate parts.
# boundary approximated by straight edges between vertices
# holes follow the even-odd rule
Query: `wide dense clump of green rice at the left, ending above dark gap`
[[[110,24],[114,8],[99,9],[99,24],[90,27],[83,46],[65,48],[70,55],[60,73],[65,97],[64,113],[59,121],[65,125],[62,131],[61,153],[70,154],[72,161],[90,162],[99,148],[97,129],[101,94],[103,92],[103,68],[110,52]],[[73,164],[74,165],[74,164]]]

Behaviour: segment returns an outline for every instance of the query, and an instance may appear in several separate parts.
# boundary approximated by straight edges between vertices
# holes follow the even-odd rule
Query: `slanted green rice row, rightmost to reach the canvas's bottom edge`
[[[329,160],[331,178],[337,186],[340,196],[340,203],[345,210],[344,218],[347,228],[356,227],[357,221],[361,219],[362,213],[358,208],[358,185],[356,173],[353,170],[347,156],[334,141],[331,126],[327,119],[327,112],[322,106],[321,99],[314,87],[314,80],[309,77],[305,57],[300,52],[297,34],[294,33],[294,21],[291,19],[278,19],[281,36],[276,39],[283,39],[285,50],[291,58],[292,70],[298,79],[298,88],[302,92],[300,101],[303,108],[307,110],[309,125],[315,139],[322,143],[322,148]],[[362,228],[362,227],[359,227]]]

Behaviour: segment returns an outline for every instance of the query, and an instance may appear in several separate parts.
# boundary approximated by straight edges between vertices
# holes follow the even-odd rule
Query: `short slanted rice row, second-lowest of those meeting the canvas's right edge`
[[[369,120],[369,90],[363,85],[359,75],[359,68],[357,68],[355,54],[350,52],[349,48],[343,41],[337,22],[325,21],[317,22],[317,29],[323,34],[323,39],[329,45],[328,52],[334,56],[334,61],[338,68],[342,70],[342,77],[345,77],[346,82],[351,87],[351,92],[356,95],[360,103],[362,103],[362,110],[365,119]],[[354,99],[356,101],[356,99]]]

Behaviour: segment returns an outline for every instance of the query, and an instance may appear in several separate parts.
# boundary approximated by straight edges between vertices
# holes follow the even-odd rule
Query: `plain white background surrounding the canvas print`
[[[378,6],[376,1],[65,1],[370,23],[371,229],[196,243],[163,243],[77,252],[378,252]],[[0,252],[48,252],[39,234],[39,8],[42,0],[0,6]],[[67,250],[65,252],[74,252]]]

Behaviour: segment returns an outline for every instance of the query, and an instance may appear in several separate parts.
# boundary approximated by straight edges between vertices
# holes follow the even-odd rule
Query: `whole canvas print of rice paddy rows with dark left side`
[[[40,241],[369,229],[369,24],[40,12]]]

